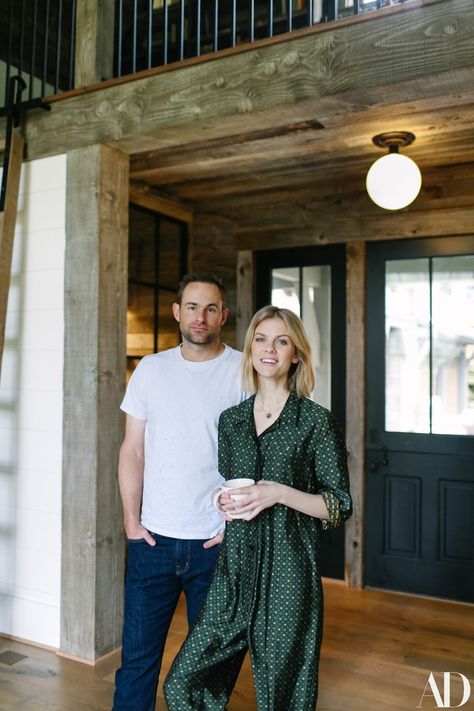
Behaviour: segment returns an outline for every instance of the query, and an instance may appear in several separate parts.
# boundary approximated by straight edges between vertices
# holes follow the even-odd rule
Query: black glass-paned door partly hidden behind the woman
[[[314,399],[345,423],[345,246],[256,252],[256,304],[286,307],[303,320],[313,346]],[[321,574],[344,578],[344,528],[325,531]]]

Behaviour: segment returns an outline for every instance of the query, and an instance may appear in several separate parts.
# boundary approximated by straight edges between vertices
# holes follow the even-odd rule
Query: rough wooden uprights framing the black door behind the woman
[[[346,245],[346,445],[354,513],[345,527],[345,581],[361,588],[365,540],[365,243]],[[237,253],[237,348],[255,310],[254,252]]]

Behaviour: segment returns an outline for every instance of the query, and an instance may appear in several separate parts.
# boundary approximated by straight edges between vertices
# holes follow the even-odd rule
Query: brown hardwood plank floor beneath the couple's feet
[[[471,697],[462,709],[474,709],[472,606],[352,590],[331,581],[325,581],[324,588],[326,618],[318,711],[416,709],[430,672],[443,695],[444,671],[461,673],[470,680]],[[184,604],[180,603],[168,637],[162,677],[185,633]],[[3,654],[6,651],[25,658],[10,664]],[[111,707],[118,661],[119,655],[114,653],[89,666],[59,657],[54,651],[0,638],[0,710],[106,711]],[[451,680],[451,704],[455,707],[462,697],[461,677],[453,674]],[[421,708],[437,708],[430,687]],[[247,658],[229,711],[255,709]],[[166,711],[161,684],[157,711]]]

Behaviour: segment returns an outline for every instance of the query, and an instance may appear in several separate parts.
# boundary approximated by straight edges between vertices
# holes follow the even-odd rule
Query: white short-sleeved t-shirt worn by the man
[[[212,538],[223,530],[211,504],[222,482],[217,469],[221,412],[245,395],[241,358],[225,346],[216,358],[186,360],[181,347],[142,358],[121,409],[146,420],[141,522],[171,538]]]

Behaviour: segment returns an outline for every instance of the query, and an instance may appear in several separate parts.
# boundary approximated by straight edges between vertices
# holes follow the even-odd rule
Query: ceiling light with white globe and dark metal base
[[[421,173],[415,161],[398,152],[409,146],[415,134],[408,131],[379,133],[372,141],[388,148],[387,155],[372,164],[367,173],[366,188],[370,198],[385,210],[401,210],[416,198],[421,188]]]

